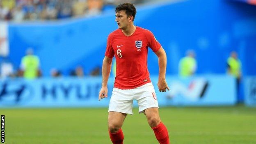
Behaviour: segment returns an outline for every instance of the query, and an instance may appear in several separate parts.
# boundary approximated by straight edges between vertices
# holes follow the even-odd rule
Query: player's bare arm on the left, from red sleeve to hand
[[[101,101],[101,98],[107,98],[107,81],[110,76],[112,59],[109,57],[104,57],[103,64],[102,64],[102,87],[101,91],[99,92],[98,99]]]

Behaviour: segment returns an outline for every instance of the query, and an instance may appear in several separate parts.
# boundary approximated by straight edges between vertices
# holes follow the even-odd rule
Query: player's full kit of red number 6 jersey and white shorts
[[[141,27],[136,27],[129,37],[119,29],[110,33],[105,56],[116,57],[117,71],[109,112],[132,114],[133,99],[138,101],[139,112],[144,112],[146,108],[158,107],[147,68],[149,47],[153,52],[157,52],[161,45],[152,32]]]

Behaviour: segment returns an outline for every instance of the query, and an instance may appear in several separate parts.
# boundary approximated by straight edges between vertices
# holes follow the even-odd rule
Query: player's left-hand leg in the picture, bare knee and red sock
[[[121,129],[127,114],[121,112],[108,112],[108,130],[113,144],[123,144],[123,131]]]

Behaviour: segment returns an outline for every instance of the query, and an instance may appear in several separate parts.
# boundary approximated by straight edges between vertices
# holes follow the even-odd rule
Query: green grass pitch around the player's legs
[[[123,124],[124,144],[158,144],[144,114]],[[0,109],[6,144],[111,144],[107,108]],[[162,107],[171,144],[256,144],[256,108]]]

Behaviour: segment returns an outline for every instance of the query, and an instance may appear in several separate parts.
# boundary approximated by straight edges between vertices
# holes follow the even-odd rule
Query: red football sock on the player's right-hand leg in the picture
[[[160,144],[170,144],[169,135],[165,125],[160,122],[158,126],[152,128],[155,133],[155,137]]]

